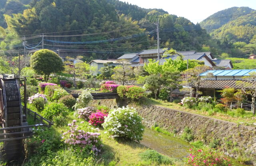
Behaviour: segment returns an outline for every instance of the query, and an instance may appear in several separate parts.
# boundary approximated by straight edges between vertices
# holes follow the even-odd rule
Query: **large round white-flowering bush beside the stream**
[[[111,111],[102,126],[113,138],[141,141],[144,132],[142,118],[136,109],[130,107],[117,108]]]

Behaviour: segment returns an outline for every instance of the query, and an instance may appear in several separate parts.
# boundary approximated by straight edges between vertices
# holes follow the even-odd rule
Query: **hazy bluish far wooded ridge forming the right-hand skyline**
[[[211,32],[214,29],[220,28],[222,25],[228,23],[229,21],[236,20],[242,15],[249,14],[254,10],[248,7],[232,7],[225,10],[221,10],[212,14],[202,22],[200,25],[206,29],[206,31]]]

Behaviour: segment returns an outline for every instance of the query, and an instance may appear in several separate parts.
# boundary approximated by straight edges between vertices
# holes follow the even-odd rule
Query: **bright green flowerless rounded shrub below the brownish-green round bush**
[[[68,107],[66,107],[63,103],[53,102],[46,105],[41,114],[44,118],[52,121],[54,116],[66,117],[68,115]]]

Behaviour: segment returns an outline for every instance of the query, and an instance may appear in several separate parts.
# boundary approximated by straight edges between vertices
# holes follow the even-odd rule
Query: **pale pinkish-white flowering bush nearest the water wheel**
[[[38,111],[44,109],[44,105],[47,103],[46,95],[44,94],[35,94],[28,98],[28,102],[36,107]]]

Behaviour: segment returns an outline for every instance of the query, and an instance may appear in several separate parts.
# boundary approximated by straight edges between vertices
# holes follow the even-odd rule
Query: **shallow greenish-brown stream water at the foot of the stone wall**
[[[191,148],[191,145],[186,141],[159,133],[149,128],[145,128],[143,140],[140,143],[161,154],[180,160],[189,155],[189,149]],[[233,166],[248,166],[238,163],[237,160],[233,158],[230,159],[234,163]]]

